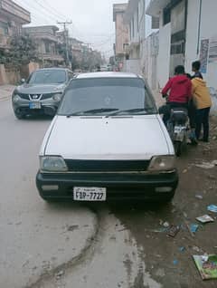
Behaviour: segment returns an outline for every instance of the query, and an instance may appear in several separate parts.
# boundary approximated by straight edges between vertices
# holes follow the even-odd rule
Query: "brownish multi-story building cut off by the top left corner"
[[[22,33],[22,25],[29,24],[31,16],[11,0],[0,0],[0,50],[8,48],[12,36]]]

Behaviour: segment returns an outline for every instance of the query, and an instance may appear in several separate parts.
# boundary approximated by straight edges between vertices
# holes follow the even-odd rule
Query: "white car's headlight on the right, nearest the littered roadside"
[[[149,171],[170,171],[175,168],[175,156],[155,156],[151,159]]]

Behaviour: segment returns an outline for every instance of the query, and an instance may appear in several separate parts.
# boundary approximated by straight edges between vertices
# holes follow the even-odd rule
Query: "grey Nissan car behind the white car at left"
[[[33,72],[12,95],[14,114],[23,119],[31,114],[54,116],[62,93],[73,78],[73,73],[64,68],[46,68]]]

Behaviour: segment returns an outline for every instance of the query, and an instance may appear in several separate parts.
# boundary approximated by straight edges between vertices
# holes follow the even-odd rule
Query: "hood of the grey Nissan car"
[[[55,93],[58,91],[63,91],[65,87],[65,84],[49,84],[49,85],[44,85],[44,84],[24,84],[22,86],[18,86],[16,90],[19,93],[24,93],[24,94],[43,94],[43,93]]]

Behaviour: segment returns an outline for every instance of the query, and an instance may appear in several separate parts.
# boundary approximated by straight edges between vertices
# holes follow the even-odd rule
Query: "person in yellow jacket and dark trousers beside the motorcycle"
[[[196,107],[195,115],[195,134],[196,139],[200,139],[203,126],[203,141],[209,141],[209,115],[212,106],[210,92],[206,86],[206,82],[200,77],[192,80],[193,102]]]

